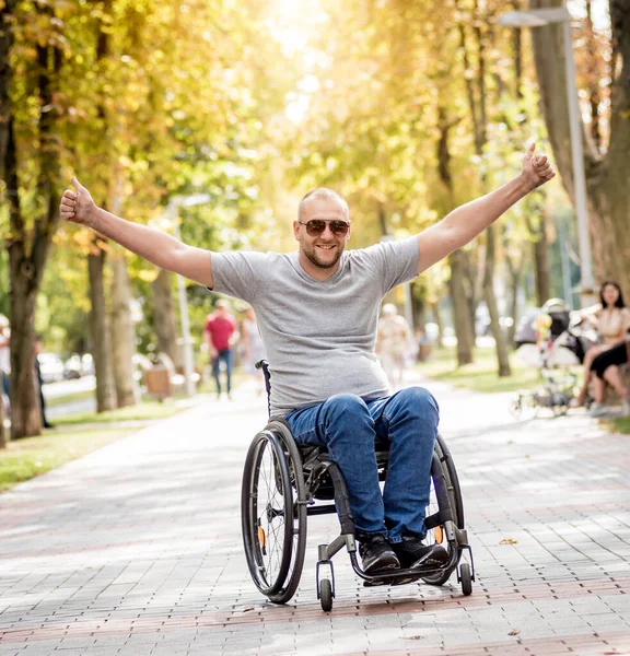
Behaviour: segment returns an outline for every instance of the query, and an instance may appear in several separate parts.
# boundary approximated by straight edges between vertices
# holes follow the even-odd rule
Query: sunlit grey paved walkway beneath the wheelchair
[[[240,483],[265,401],[209,401],[0,496],[0,656],[630,654],[630,436],[581,414],[429,385],[463,482],[472,596],[363,588],[343,553],[322,612],[311,518],[289,606],[241,546]]]

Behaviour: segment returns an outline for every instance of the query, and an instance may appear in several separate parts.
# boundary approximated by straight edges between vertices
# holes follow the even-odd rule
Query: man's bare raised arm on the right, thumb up
[[[440,223],[418,235],[418,273],[465,246],[523,197],[555,177],[545,155],[535,155],[533,143],[523,157],[521,175],[495,191],[450,212]]]

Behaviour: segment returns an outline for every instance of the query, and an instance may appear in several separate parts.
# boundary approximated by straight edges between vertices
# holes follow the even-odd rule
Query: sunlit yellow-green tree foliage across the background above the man
[[[348,197],[353,246],[423,230],[483,185],[505,181],[525,142],[545,137],[532,58],[523,57],[517,78],[514,33],[495,26],[509,9],[509,0],[19,0],[11,94],[30,230],[43,211],[45,145],[61,157],[59,188],[77,174],[97,202],[131,221],[172,231],[163,214],[174,196],[209,195],[179,213],[183,239],[202,248],[293,248],[296,201],[319,185]],[[490,126],[481,154],[469,102],[469,94],[474,106],[480,102],[471,84],[476,30]],[[44,108],[37,47],[46,44],[58,46],[62,66]],[[43,144],[48,112],[56,140]],[[450,188],[438,150],[446,129]],[[524,244],[546,202],[533,197],[502,222],[502,256],[524,271],[532,266]],[[0,229],[7,225],[0,208]],[[89,348],[84,256],[93,247],[88,231],[71,225],[55,236],[37,316],[47,348]],[[156,271],[136,257],[128,262],[145,350],[154,341],[149,282]],[[434,267],[416,293],[436,303],[447,278],[446,267]],[[0,254],[3,314],[7,280]],[[187,293],[200,330],[211,297],[197,285]]]

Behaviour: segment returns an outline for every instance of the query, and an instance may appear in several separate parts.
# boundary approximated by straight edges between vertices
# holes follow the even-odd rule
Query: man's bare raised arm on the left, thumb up
[[[72,178],[72,185],[77,190],[66,189],[61,198],[61,219],[95,230],[161,269],[212,288],[210,251],[188,246],[159,230],[106,212],[96,207],[90,191],[77,178]]]

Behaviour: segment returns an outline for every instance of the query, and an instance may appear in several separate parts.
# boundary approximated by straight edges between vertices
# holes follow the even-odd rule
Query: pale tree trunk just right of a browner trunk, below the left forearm
[[[118,408],[135,406],[133,354],[136,335],[131,318],[131,291],[127,262],[118,255],[112,262],[112,361]]]

